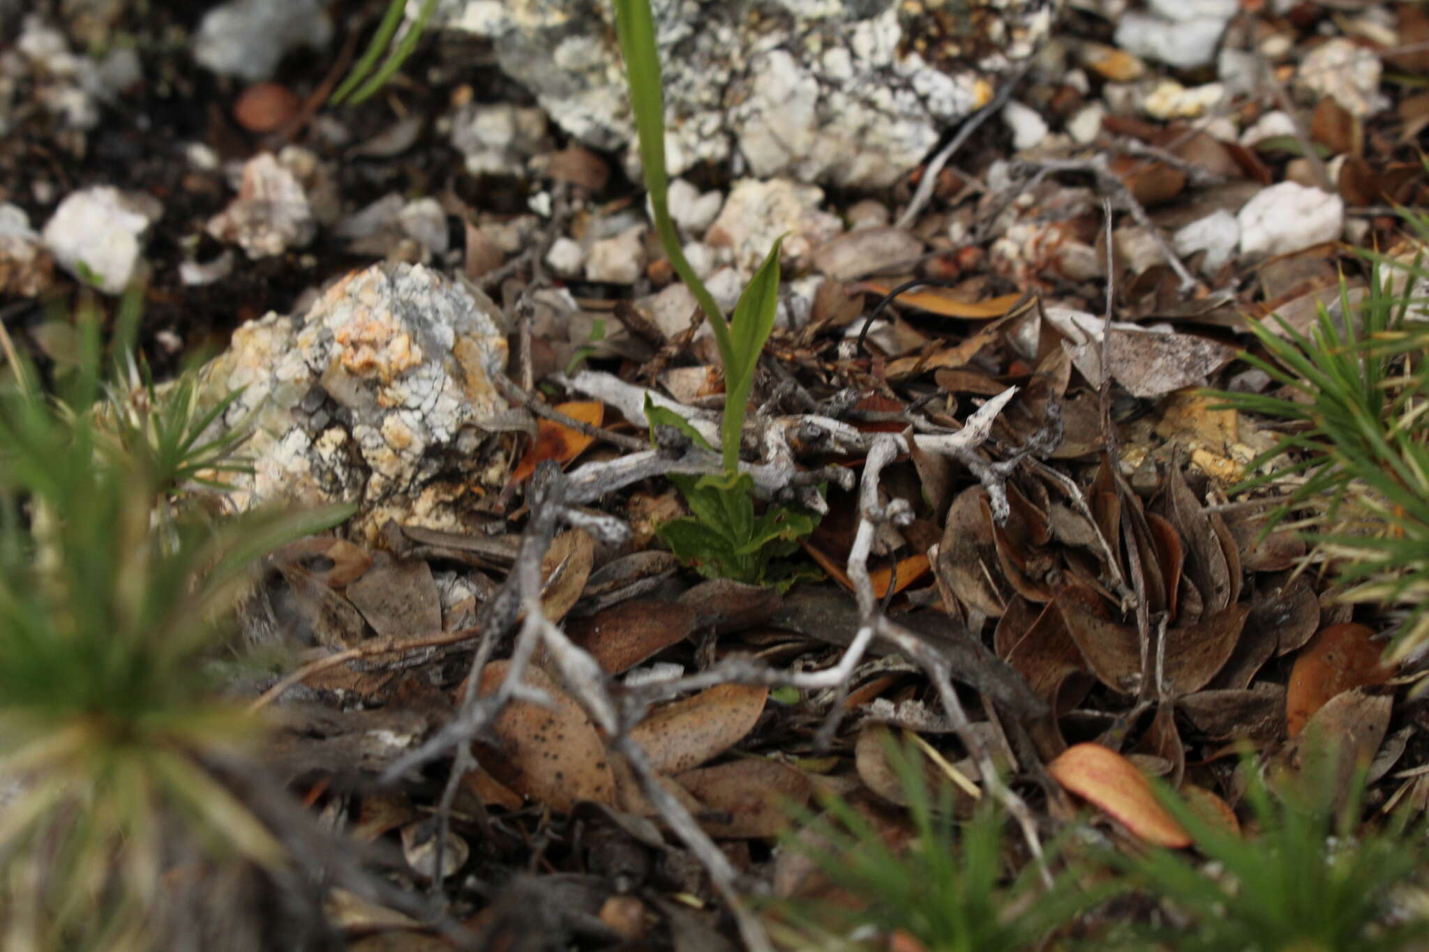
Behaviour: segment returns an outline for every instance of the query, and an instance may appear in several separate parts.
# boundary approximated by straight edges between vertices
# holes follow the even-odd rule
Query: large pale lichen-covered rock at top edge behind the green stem
[[[1062,0],[652,6],[672,174],[737,158],[760,178],[883,188],[992,97],[1050,34]],[[442,0],[434,23],[492,39],[553,121],[616,148],[634,124],[612,16],[607,0]]]

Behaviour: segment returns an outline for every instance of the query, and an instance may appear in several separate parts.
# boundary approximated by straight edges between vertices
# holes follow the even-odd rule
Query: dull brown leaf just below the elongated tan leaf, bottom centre
[[[700,825],[722,839],[777,836],[789,826],[789,805],[805,806],[813,788],[787,764],[747,758],[684,771],[674,778],[720,815],[702,815]]]

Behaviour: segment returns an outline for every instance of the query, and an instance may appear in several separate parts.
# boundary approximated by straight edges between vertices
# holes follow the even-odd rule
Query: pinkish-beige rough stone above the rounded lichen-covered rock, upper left
[[[207,231],[256,260],[306,245],[317,234],[317,220],[297,177],[263,153],[243,164],[237,198],[209,220]]]

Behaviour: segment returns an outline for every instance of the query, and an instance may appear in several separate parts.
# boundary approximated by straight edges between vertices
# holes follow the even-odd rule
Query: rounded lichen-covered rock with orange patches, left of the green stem
[[[423,265],[380,264],[303,317],[240,327],[206,378],[211,398],[243,390],[223,424],[254,430],[254,474],[233,502],[362,501],[366,535],[389,518],[460,528],[470,424],[506,407],[490,377],[506,365],[494,314]]]

